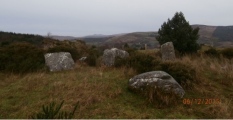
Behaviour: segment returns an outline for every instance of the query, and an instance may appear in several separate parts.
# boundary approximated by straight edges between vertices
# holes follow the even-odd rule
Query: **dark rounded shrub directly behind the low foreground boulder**
[[[183,87],[191,87],[196,80],[196,70],[184,63],[163,62],[160,69],[170,74]]]

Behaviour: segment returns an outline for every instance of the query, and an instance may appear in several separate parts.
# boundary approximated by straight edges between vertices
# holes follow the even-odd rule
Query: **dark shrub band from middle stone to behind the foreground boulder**
[[[115,67],[122,66],[133,68],[138,74],[154,70],[165,71],[183,87],[191,87],[196,80],[196,70],[192,66],[180,62],[162,62],[156,57],[138,52],[128,58],[117,57]]]

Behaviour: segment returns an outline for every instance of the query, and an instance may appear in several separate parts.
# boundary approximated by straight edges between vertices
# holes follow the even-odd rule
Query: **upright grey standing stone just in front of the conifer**
[[[175,50],[172,42],[166,42],[161,45],[162,60],[174,60]]]

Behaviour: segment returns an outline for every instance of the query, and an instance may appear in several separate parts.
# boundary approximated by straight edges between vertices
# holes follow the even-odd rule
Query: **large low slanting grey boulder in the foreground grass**
[[[164,71],[151,71],[134,76],[129,80],[129,88],[136,91],[143,91],[145,88],[163,90],[166,93],[174,93],[182,98],[184,89],[176,80]]]

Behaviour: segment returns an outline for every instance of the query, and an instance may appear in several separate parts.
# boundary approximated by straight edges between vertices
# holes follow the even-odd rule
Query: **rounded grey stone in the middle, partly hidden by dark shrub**
[[[115,63],[116,57],[125,58],[128,56],[129,56],[129,53],[124,50],[120,50],[117,48],[106,49],[104,50],[104,54],[103,54],[103,63],[106,66],[113,66]]]

